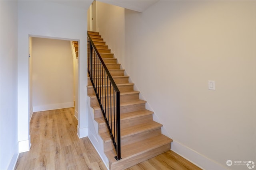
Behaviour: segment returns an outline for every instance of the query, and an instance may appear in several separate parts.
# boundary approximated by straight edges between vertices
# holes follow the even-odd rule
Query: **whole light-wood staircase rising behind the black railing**
[[[170,150],[172,139],[162,135],[162,125],[153,121],[153,112],[145,108],[146,101],[139,99],[140,92],[133,90],[134,84],[129,83],[128,76],[124,76],[124,70],[120,69],[120,64],[101,35],[92,31],[88,33],[120,90],[122,159],[116,160],[112,141],[88,77],[90,106],[94,110],[94,120],[98,123],[98,133],[104,141],[104,153],[109,160],[109,169],[123,170]]]

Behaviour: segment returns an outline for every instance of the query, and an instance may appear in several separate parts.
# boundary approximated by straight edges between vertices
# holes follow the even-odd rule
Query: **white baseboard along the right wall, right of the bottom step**
[[[210,160],[204,155],[199,154],[195,150],[192,150],[176,141],[172,142],[171,150],[202,169],[206,169],[206,170],[225,170],[226,169],[225,167],[221,166],[217,162]]]

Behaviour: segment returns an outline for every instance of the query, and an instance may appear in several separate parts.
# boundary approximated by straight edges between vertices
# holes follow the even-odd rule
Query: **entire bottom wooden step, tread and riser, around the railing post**
[[[106,156],[109,159],[110,170],[124,170],[154,156],[167,152],[171,149],[171,142],[172,139],[160,134],[143,141],[122,146],[122,159],[120,160],[114,158],[114,156],[116,156],[114,150],[109,150],[106,152]]]

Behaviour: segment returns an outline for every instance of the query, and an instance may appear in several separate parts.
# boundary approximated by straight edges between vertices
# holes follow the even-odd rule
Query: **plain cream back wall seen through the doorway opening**
[[[33,110],[74,107],[70,41],[33,38]]]

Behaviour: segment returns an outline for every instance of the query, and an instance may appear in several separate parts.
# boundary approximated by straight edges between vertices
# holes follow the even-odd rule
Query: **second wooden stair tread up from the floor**
[[[126,128],[122,128],[122,125],[121,125],[121,139],[124,137],[142,133],[145,131],[158,129],[158,128],[161,128],[162,126],[163,126],[162,124],[157,123],[156,121],[153,121],[153,120],[147,123],[141,123],[141,124],[126,127]],[[105,142],[109,142],[111,140],[108,132],[100,133],[100,136]]]

